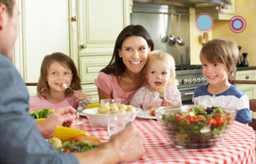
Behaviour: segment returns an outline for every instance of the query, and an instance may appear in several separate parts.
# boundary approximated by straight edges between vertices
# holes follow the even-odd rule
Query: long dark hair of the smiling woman
[[[100,72],[104,72],[106,74],[115,73],[116,76],[119,76],[121,73],[125,71],[125,64],[122,61],[122,58],[119,57],[118,49],[122,49],[122,43],[127,37],[138,36],[143,37],[147,41],[147,45],[151,47],[151,51],[154,50],[154,43],[149,32],[140,25],[129,25],[125,27],[119,34],[116,39],[116,44],[114,48],[114,53],[111,58],[111,61],[107,67],[101,69]]]

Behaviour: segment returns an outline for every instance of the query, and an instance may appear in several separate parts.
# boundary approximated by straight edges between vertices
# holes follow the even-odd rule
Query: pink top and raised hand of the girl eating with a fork
[[[83,91],[78,90],[79,92],[83,93]],[[75,93],[76,97],[79,97],[77,93]],[[66,96],[64,100],[62,100],[59,103],[51,103],[45,100],[45,98],[39,98],[38,95],[33,96],[29,99],[29,110],[36,110],[36,109],[43,109],[43,108],[51,108],[51,109],[57,109],[61,107],[71,106],[75,108],[75,110],[78,107],[78,102],[76,102],[75,96],[72,94],[70,97]]]

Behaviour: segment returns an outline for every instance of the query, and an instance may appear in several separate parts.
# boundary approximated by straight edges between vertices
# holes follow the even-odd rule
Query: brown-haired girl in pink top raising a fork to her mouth
[[[73,91],[63,88],[63,83],[66,83]],[[66,106],[77,109],[85,97],[81,90],[80,77],[72,59],[60,52],[47,55],[41,66],[37,95],[29,100],[29,111]]]

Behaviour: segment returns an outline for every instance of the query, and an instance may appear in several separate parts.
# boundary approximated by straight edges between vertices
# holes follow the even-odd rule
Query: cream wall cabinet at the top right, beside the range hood
[[[231,4],[223,4],[222,6],[214,5],[212,7],[196,7],[196,16],[200,13],[208,13],[210,14],[214,20],[230,20],[235,15],[235,0],[231,0]],[[218,10],[216,10],[216,6],[219,7]],[[225,7],[228,7],[228,9],[225,9]],[[223,14],[220,14],[220,12],[223,11]]]

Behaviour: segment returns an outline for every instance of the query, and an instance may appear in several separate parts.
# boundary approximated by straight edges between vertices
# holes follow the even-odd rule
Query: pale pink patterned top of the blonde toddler
[[[165,99],[176,105],[181,105],[181,94],[180,91],[174,87],[165,87]],[[159,93],[152,93],[149,91],[149,85],[141,87],[132,97],[130,105],[142,108],[143,110],[150,110],[152,107],[161,107],[161,100]]]

